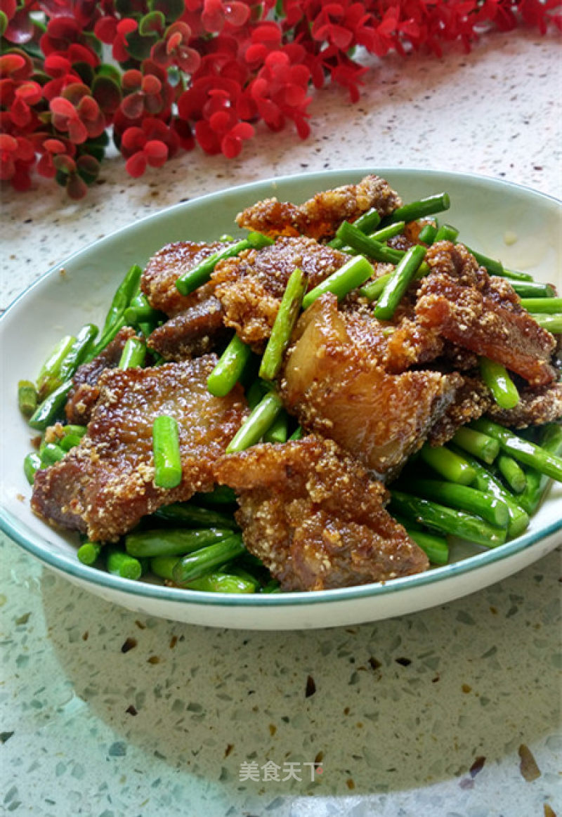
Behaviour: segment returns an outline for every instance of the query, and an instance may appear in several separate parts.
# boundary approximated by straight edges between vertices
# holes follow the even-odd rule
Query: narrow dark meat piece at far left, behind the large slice
[[[130,326],[119,329],[113,341],[105,346],[90,363],[78,366],[72,378],[73,387],[65,405],[65,414],[68,422],[76,426],[86,426],[90,422],[91,412],[100,395],[97,382],[106,368],[115,368],[129,337],[135,337],[136,332]]]

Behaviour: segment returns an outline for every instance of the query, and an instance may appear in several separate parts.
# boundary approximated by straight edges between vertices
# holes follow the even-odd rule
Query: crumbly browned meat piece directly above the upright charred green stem
[[[309,288],[313,288],[348,259],[344,252],[299,238],[279,239],[271,247],[221,261],[212,280],[225,311],[225,324],[256,351],[263,350],[295,267],[308,275]]]

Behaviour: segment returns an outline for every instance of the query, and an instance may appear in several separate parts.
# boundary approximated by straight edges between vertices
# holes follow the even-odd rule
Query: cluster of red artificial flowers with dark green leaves
[[[196,143],[234,158],[260,122],[304,139],[311,87],[359,99],[358,48],[440,56],[517,25],[562,29],[560,0],[0,0],[0,181],[34,168],[80,198],[109,135],[132,176]]]

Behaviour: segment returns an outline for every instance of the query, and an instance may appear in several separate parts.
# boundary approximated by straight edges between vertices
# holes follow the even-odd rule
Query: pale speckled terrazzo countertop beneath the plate
[[[560,195],[561,73],[560,40],[497,34],[386,60],[356,106],[318,93],[308,141],[138,181],[115,161],[80,203],[4,193],[1,306],[91,240],[263,177],[435,167]],[[423,613],[275,633],[139,618],[0,547],[1,814],[562,815],[560,549]]]

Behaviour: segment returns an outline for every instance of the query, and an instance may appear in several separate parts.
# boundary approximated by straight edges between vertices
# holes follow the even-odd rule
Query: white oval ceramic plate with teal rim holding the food
[[[145,264],[171,241],[237,234],[236,213],[258,199],[277,196],[298,203],[319,190],[359,181],[368,172],[373,168],[288,176],[177,205],[77,252],[18,298],[0,320],[2,529],[69,581],[141,614],[212,627],[279,630],[374,621],[443,604],[515,573],[562,542],[562,485],[555,484],[523,536],[495,550],[457,542],[450,564],[425,574],[315,593],[226,596],[132,582],[81,565],[76,539],[49,528],[29,510],[22,461],[31,434],[17,408],[17,382],[37,375],[62,334],[76,333],[90,321],[103,322],[129,266]],[[446,221],[460,229],[460,240],[502,258],[508,268],[530,271],[537,280],[560,287],[562,208],[555,199],[478,176],[385,168],[374,172],[390,181],[405,202],[446,190],[452,202]]]

